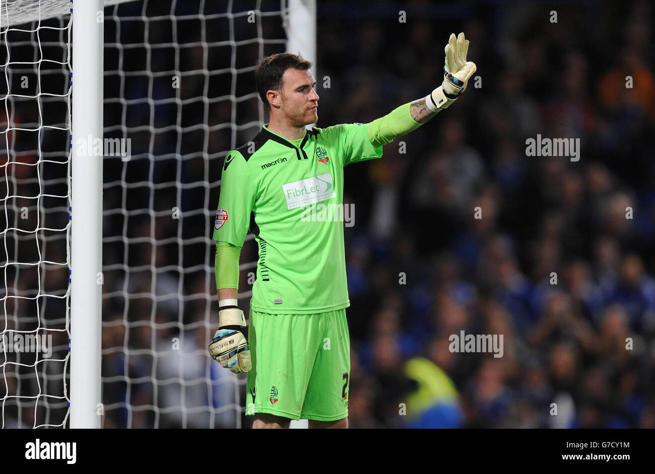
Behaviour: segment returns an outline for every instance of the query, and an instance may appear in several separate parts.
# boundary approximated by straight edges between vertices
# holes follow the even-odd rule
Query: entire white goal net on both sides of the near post
[[[0,1],[3,428],[70,424],[71,71],[84,58],[69,8]],[[286,50],[287,11],[280,0],[136,0],[98,12],[103,103],[88,107],[103,107],[104,428],[242,426],[245,376],[206,350],[213,208],[223,157],[263,124],[254,65]],[[244,308],[256,261],[251,235]]]

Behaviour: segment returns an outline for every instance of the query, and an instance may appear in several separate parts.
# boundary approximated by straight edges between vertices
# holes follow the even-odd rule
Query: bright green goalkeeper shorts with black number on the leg
[[[292,420],[348,416],[350,335],[346,310],[265,314],[250,310],[246,415]]]

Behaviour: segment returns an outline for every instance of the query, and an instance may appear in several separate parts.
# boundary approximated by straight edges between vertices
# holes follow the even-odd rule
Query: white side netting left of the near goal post
[[[18,7],[0,2],[1,424],[39,428],[68,415],[70,21],[9,26]]]

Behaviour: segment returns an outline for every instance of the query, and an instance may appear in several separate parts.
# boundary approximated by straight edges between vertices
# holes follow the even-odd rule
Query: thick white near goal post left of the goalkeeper
[[[103,155],[78,144],[103,138],[103,4],[84,0],[73,8],[71,428],[100,428]]]

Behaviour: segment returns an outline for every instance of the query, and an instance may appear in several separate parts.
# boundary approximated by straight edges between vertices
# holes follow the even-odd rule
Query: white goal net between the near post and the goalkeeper
[[[105,427],[238,427],[245,377],[207,354],[223,157],[259,130],[253,70],[284,52],[276,1],[136,1],[105,9]],[[257,260],[242,252],[240,303]],[[242,388],[238,390],[238,388]]]

